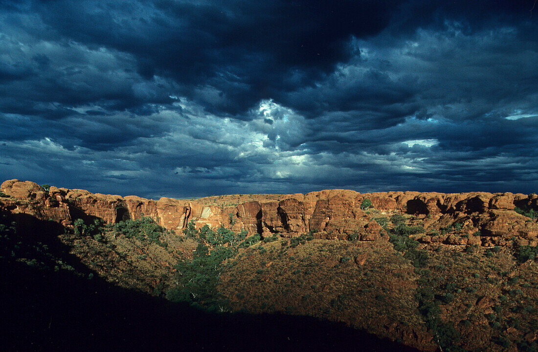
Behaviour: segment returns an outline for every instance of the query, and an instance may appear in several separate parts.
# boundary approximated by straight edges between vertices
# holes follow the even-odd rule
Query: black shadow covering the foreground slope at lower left
[[[65,253],[54,233],[46,241]],[[9,256],[0,258],[0,319],[5,351],[415,351],[309,317],[202,312]]]

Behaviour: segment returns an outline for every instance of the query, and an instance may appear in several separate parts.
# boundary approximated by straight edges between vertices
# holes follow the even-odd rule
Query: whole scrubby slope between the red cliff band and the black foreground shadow
[[[434,234],[402,215],[376,218],[389,242],[262,238],[192,223],[178,235],[146,217],[112,227],[77,219],[72,231],[37,221],[24,226],[41,233],[22,239],[17,226],[36,220],[19,217],[3,215],[0,255],[29,268],[97,275],[210,311],[343,321],[425,349],[538,350],[537,247],[425,244],[422,233]]]

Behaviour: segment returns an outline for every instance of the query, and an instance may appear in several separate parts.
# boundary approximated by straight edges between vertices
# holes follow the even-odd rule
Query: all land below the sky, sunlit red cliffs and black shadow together
[[[13,348],[538,349],[535,194],[0,191]]]

